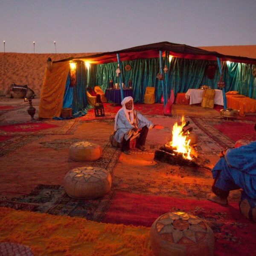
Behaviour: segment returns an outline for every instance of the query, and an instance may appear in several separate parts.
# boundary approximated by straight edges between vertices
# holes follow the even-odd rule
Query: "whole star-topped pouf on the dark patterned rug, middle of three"
[[[64,177],[64,189],[72,198],[99,198],[111,189],[112,178],[106,169],[101,167],[78,167],[67,172]]]

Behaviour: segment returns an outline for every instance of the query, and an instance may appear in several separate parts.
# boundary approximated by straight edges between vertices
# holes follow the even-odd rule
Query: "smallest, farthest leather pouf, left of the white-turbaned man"
[[[89,141],[81,141],[70,146],[69,157],[79,162],[94,161],[102,155],[102,147]]]

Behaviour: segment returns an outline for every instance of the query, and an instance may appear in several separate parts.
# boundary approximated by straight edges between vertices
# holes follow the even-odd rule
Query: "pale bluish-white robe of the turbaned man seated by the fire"
[[[137,112],[134,110],[134,117],[137,116],[138,128],[143,128],[145,125],[148,127],[148,129],[152,129],[154,127],[154,124],[150,122],[148,119],[146,119],[140,112]],[[125,140],[128,140],[133,134],[130,132],[131,129],[134,128],[134,125],[131,125],[128,119],[125,116],[125,111],[121,109],[118,112],[117,120],[116,120],[116,134],[115,134],[115,140],[119,143],[122,143],[122,140],[125,136]]]

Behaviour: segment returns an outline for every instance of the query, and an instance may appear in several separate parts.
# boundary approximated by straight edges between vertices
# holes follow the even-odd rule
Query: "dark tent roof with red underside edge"
[[[219,58],[221,61],[240,62],[247,64],[256,64],[256,59],[241,56],[224,55],[218,52],[211,52],[197,47],[188,46],[186,44],[174,44],[169,42],[160,42],[155,44],[146,44],[142,46],[122,49],[114,52],[102,52],[95,55],[81,56],[79,58],[67,58],[55,62],[82,60],[93,64],[104,64],[116,62],[116,54],[119,53],[120,61],[128,61],[142,58],[157,58],[159,51],[169,51],[169,55],[177,58],[197,59],[216,61]]]

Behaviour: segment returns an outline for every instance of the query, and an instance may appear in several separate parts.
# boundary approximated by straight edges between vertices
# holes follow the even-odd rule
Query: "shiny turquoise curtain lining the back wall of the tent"
[[[163,60],[165,61],[165,59]],[[130,71],[125,71],[125,65],[131,65]],[[215,76],[213,79],[207,78],[207,65],[216,66]],[[172,58],[169,63],[167,92],[170,95],[171,89],[175,95],[179,92],[186,92],[190,88],[199,88],[201,85],[208,85],[213,89],[218,89],[217,82],[220,79],[220,73],[217,66],[217,61],[191,60],[183,58]],[[223,79],[226,84],[225,90],[237,90],[245,96],[251,96],[256,99],[256,79],[252,75],[252,64],[233,63],[227,64],[224,62],[222,69]],[[119,84],[119,79],[116,77],[117,62],[108,64],[96,65],[95,84],[102,87],[105,91],[109,87],[109,80]],[[159,73],[159,59],[147,58],[133,61],[122,61],[122,80],[126,87],[131,79],[134,92],[134,102],[143,102],[145,87],[151,86],[155,88],[155,101],[160,102],[162,88],[160,81],[156,78]],[[93,80],[92,80],[93,81]],[[95,85],[94,84],[94,85]]]

